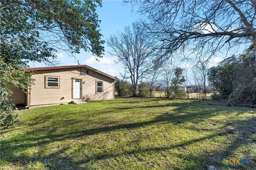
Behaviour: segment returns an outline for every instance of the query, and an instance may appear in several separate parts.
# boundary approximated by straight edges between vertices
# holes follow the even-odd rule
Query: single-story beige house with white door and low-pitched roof
[[[11,87],[9,97],[15,104],[26,106],[114,99],[116,79],[87,65],[36,67],[25,69],[33,72],[34,84],[27,93]]]

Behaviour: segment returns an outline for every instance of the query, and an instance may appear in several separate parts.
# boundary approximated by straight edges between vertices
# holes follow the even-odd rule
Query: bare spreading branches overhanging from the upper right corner
[[[167,56],[186,50],[213,56],[220,50],[252,43],[251,64],[256,72],[256,1],[236,0],[125,0],[139,4],[147,15],[145,28],[158,39],[159,52]],[[186,50],[185,50],[186,49]]]

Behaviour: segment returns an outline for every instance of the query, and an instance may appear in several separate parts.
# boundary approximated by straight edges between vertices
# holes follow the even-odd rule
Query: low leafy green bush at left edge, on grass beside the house
[[[0,99],[0,126],[4,129],[17,122],[17,114],[13,113],[15,105],[7,99]]]

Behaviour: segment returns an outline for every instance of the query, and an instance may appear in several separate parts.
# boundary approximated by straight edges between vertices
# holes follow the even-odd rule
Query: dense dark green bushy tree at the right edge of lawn
[[[250,47],[239,56],[231,56],[212,67],[209,80],[230,103],[256,104],[256,74],[251,64],[254,52]]]

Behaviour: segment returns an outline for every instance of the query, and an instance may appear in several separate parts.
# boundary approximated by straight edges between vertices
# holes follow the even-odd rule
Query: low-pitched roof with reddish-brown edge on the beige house
[[[25,69],[25,72],[30,72],[30,71],[46,71],[46,70],[60,70],[60,69],[75,69],[75,68],[85,68],[87,70],[94,71],[96,73],[99,73],[101,75],[104,75],[105,77],[108,77],[110,79],[116,80],[111,75],[108,75],[106,73],[103,73],[97,69],[93,69],[93,67],[90,67],[88,65],[66,65],[66,66],[52,66],[52,67],[33,67],[33,68],[27,68]]]

